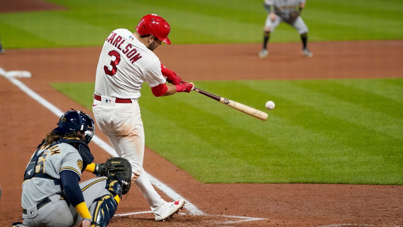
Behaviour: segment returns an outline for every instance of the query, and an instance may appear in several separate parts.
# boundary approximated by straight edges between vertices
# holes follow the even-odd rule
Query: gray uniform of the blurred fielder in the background
[[[270,31],[273,32],[274,29],[284,21],[289,25],[295,27],[299,34],[304,34],[308,32],[308,27],[301,17],[297,19],[291,19],[290,15],[292,12],[299,11],[299,5],[305,3],[306,0],[265,0],[264,6],[269,15],[266,18],[266,27],[270,27]],[[276,14],[276,19],[274,21],[270,20],[270,13]]]

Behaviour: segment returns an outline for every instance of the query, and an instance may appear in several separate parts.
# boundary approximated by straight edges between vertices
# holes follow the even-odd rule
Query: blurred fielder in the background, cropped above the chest
[[[306,0],[264,0],[264,8],[268,16],[264,25],[263,48],[259,52],[260,58],[267,57],[267,43],[270,39],[270,33],[280,24],[288,23],[298,30],[302,41],[302,55],[313,57],[314,55],[307,48],[308,27],[302,20],[300,14],[305,7]]]

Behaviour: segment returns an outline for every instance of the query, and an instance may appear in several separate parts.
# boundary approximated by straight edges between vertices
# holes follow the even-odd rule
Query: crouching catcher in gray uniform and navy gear
[[[23,223],[13,227],[106,227],[131,185],[131,165],[124,158],[93,163],[88,143],[92,118],[67,111],[29,160],[21,204]],[[83,170],[101,177],[79,184]]]

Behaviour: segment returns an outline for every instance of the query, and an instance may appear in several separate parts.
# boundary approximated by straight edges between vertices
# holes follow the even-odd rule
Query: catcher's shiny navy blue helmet
[[[71,132],[84,131],[85,133],[85,143],[89,143],[95,134],[95,124],[92,118],[82,111],[74,110],[67,111],[64,113],[57,123],[58,127],[55,128],[54,132],[59,132],[63,134]]]

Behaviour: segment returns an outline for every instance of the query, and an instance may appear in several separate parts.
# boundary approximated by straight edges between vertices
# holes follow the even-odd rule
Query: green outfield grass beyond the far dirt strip
[[[116,28],[135,30],[149,13],[172,27],[173,44],[257,43],[266,19],[263,0],[49,0],[66,11],[0,14],[5,48],[100,46]],[[311,41],[403,38],[401,0],[308,0],[302,17]],[[299,41],[282,24],[271,42]]]

